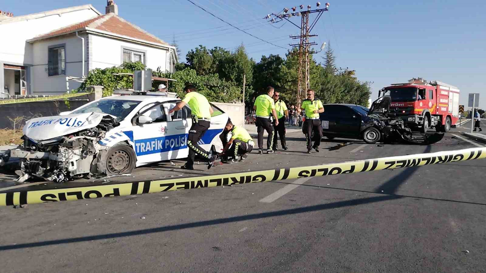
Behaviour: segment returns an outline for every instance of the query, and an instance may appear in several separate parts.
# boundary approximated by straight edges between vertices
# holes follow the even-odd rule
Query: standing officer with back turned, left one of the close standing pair
[[[263,146],[263,130],[267,131],[267,154],[272,154],[273,151],[273,134],[274,128],[272,125],[272,116],[275,120],[275,126],[278,126],[278,118],[277,112],[275,111],[275,102],[272,99],[274,94],[274,88],[272,86],[267,87],[267,93],[260,95],[255,100],[253,105],[253,110],[257,111],[257,121],[255,124],[257,125],[257,132],[258,132],[258,153],[262,154],[262,146]]]

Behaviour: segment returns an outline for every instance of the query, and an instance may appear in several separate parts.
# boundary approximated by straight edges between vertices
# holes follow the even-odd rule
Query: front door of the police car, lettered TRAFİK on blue
[[[171,144],[175,147],[175,140],[171,141],[171,135],[167,133],[168,111],[164,104],[156,103],[132,119],[137,165],[170,159]],[[141,116],[151,121],[140,123]]]

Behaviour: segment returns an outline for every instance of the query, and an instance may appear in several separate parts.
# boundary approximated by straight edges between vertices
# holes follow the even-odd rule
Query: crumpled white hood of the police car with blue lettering
[[[32,140],[47,140],[66,136],[97,126],[104,113],[83,113],[66,116],[35,118],[25,123],[23,133]]]

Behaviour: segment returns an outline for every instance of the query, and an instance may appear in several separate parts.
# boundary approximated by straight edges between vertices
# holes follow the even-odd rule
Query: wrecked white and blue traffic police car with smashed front
[[[89,174],[126,174],[135,167],[188,156],[191,109],[169,114],[180,99],[128,95],[105,97],[60,116],[26,122],[17,181],[41,177],[66,182]],[[199,141],[222,148],[219,136],[228,115],[211,104],[211,125]]]

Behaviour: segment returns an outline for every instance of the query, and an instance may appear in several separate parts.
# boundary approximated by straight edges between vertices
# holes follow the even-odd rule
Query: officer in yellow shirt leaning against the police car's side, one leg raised
[[[205,96],[196,92],[196,87],[194,85],[186,85],[184,87],[184,91],[186,91],[186,96],[184,99],[177,103],[171,110],[169,110],[169,114],[180,110],[182,107],[189,105],[192,112],[192,125],[191,129],[189,130],[189,136],[187,138],[187,146],[189,147],[189,155],[187,158],[187,162],[184,166],[181,166],[181,169],[185,170],[194,170],[194,159],[196,157],[196,153],[200,156],[208,159],[208,169],[212,167],[214,160],[216,159],[216,149],[214,145],[211,146],[211,150],[207,152],[197,142],[201,140],[201,137],[204,136],[204,133],[208,131],[211,114],[213,112],[211,105],[209,105],[208,99]]]

